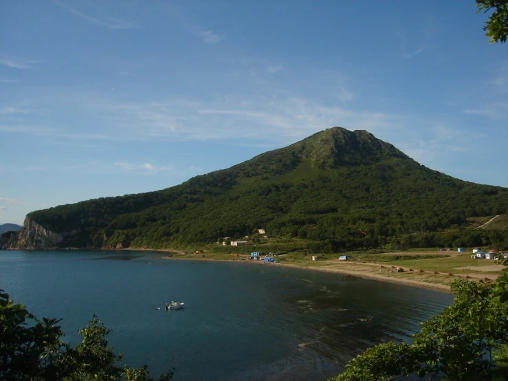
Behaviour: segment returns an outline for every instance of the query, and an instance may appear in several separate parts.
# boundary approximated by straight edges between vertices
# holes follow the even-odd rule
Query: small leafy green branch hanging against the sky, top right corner
[[[476,0],[477,12],[493,10],[483,30],[490,43],[506,42],[508,35],[508,1],[507,0]]]

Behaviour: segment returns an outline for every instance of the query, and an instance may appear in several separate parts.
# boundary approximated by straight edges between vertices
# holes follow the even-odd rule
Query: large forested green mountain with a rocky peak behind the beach
[[[258,228],[313,250],[508,246],[506,230],[470,228],[507,211],[508,188],[432,171],[367,131],[333,127],[164,190],[32,212],[16,247],[185,248]]]

